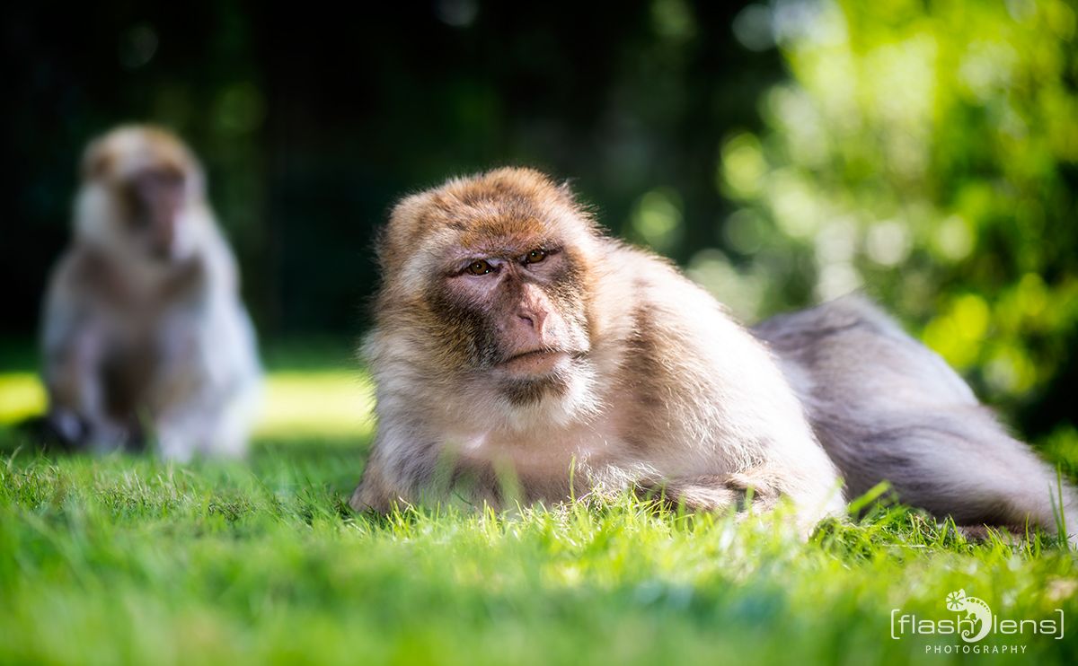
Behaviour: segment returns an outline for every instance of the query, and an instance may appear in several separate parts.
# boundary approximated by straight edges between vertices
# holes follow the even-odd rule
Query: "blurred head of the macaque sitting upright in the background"
[[[209,224],[202,168],[164,129],[127,125],[95,139],[81,178],[75,233],[124,256],[181,261]]]

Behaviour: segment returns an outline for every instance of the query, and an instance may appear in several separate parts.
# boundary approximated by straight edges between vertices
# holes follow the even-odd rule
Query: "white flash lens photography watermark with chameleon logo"
[[[946,611],[953,613],[950,618],[921,618],[895,608],[890,611],[890,637],[900,640],[910,636],[948,637],[956,636],[962,643],[932,643],[925,646],[926,653],[937,654],[1004,654],[1024,653],[1026,646],[1021,642],[1011,644],[977,644],[989,634],[1009,638],[1031,638],[1042,636],[1063,640],[1065,627],[1063,610],[1055,609],[1052,615],[1041,620],[1012,620],[999,618],[992,608],[977,597],[966,594],[965,589],[956,589],[949,594],[942,603]],[[1005,639],[1005,640],[1007,640]]]

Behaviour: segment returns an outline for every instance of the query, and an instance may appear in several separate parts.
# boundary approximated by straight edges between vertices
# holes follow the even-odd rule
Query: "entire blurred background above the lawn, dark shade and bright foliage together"
[[[264,339],[357,335],[393,199],[528,164],[744,319],[863,289],[1024,432],[1070,439],[1075,9],[11,4],[0,333],[32,335],[82,147],[152,121],[202,155]]]

